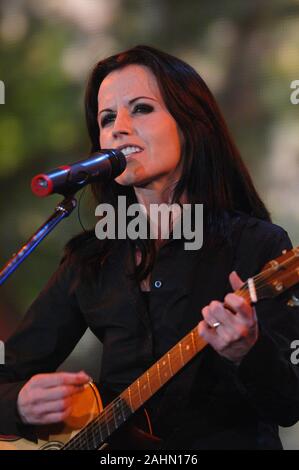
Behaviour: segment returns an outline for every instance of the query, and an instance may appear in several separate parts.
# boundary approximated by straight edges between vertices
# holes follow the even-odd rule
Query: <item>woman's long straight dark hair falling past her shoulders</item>
[[[85,109],[91,151],[100,150],[98,126],[98,91],[104,78],[114,70],[138,64],[148,67],[155,75],[165,105],[183,134],[182,172],[176,184],[173,201],[185,192],[191,204],[204,205],[205,231],[214,239],[224,236],[224,214],[241,211],[270,221],[270,215],[257,194],[248,170],[233,142],[219,107],[200,75],[184,61],[150,46],[136,46],[96,64],[86,89]],[[116,208],[117,196],[126,195],[127,203],[136,202],[133,187],[115,181],[109,185],[92,186],[97,203],[109,202]],[[91,240],[90,234],[71,241],[67,253]],[[82,266],[94,272],[107,256],[113,242],[95,240],[90,250],[82,250]],[[136,240],[142,262],[136,269],[139,280],[150,272],[155,258],[150,240]],[[85,245],[86,248],[86,245]],[[83,255],[84,252],[84,255]]]

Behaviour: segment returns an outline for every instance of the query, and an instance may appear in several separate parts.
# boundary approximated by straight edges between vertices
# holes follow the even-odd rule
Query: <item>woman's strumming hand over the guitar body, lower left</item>
[[[90,381],[85,372],[53,372],[34,375],[20,390],[19,415],[25,424],[50,424],[66,419],[72,410],[72,396]]]

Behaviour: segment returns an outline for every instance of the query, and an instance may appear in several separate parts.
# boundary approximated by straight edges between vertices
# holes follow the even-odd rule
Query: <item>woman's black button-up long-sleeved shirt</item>
[[[26,434],[16,415],[20,388],[54,371],[87,327],[103,343],[100,382],[119,393],[197,325],[205,305],[224,299],[233,269],[247,279],[291,246],[276,225],[235,214],[231,226],[232,237],[217,248],[187,251],[183,240],[162,246],[145,295],[130,277],[129,240],[117,244],[97,281],[75,289],[76,264],[64,262],[6,344],[0,433]],[[257,304],[259,338],[238,367],[207,346],[150,401],[165,448],[281,447],[278,425],[299,419],[298,367],[290,360],[299,316],[288,297]]]

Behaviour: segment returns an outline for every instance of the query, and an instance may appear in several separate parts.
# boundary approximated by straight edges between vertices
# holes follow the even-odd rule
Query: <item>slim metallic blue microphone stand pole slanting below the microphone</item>
[[[54,210],[54,213],[46,222],[32,235],[24,246],[5,264],[0,271],[0,286],[18,268],[18,266],[32,253],[40,242],[56,227],[62,219],[68,217],[77,206],[74,194],[65,197]]]

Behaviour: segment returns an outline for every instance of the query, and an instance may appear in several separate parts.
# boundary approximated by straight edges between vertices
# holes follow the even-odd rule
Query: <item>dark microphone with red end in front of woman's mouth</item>
[[[120,150],[101,150],[85,160],[34,176],[31,190],[38,197],[53,193],[68,196],[89,183],[116,178],[125,170],[126,165],[126,157]]]

